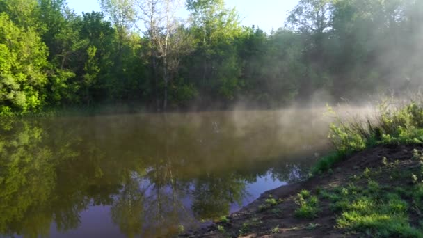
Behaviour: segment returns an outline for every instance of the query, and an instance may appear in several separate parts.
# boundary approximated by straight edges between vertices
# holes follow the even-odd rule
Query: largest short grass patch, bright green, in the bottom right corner
[[[423,227],[410,223],[410,212],[423,219],[422,183],[390,187],[369,178],[365,189],[349,184],[321,191],[319,197],[330,202],[338,229],[370,237],[423,237]]]

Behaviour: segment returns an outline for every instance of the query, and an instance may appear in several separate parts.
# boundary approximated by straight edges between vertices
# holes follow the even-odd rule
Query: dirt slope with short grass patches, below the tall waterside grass
[[[184,237],[423,237],[423,145],[379,145]]]

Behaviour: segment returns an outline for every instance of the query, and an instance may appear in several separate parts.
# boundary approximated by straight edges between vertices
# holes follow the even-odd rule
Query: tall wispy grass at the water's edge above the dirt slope
[[[317,162],[312,168],[314,175],[374,145],[423,143],[423,100],[397,104],[385,101],[378,106],[375,116],[365,120],[342,119],[332,108],[328,111],[335,116],[329,134],[335,151]]]

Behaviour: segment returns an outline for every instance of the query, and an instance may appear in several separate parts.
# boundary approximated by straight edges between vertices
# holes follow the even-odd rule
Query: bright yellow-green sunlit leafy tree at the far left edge
[[[47,83],[47,48],[40,36],[0,13],[0,42],[0,111],[40,108]]]

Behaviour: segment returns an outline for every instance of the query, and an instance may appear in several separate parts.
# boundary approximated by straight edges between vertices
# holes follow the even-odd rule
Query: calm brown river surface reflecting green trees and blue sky
[[[303,175],[326,145],[320,115],[2,120],[0,234],[166,237],[227,215]]]

